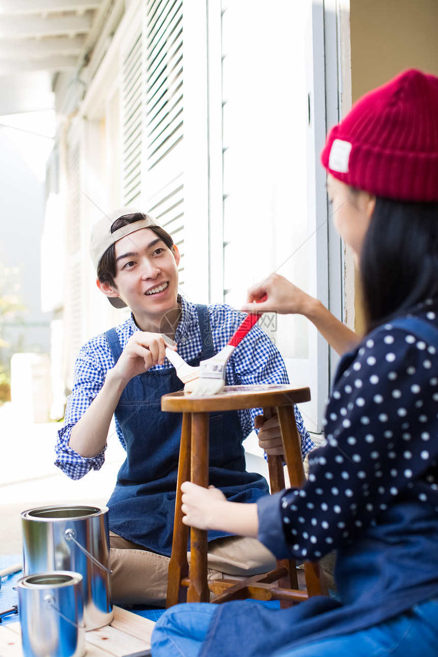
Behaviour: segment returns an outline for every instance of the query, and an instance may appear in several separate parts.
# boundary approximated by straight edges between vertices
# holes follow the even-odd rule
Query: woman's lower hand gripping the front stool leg
[[[204,488],[191,482],[184,482],[181,490],[183,491],[181,510],[185,514],[183,523],[198,530],[217,529],[215,527],[217,503],[230,504],[223,492],[214,486]]]

